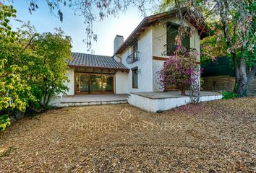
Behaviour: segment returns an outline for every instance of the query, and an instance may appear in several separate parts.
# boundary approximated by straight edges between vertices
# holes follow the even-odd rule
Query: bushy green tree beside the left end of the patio
[[[38,35],[30,45],[30,50],[36,57],[26,57],[26,66],[30,69],[25,73],[28,84],[31,86],[37,102],[33,102],[34,108],[45,110],[55,94],[65,93],[68,89],[65,82],[67,61],[71,58],[71,38],[64,35],[60,29],[56,33],[50,32]]]

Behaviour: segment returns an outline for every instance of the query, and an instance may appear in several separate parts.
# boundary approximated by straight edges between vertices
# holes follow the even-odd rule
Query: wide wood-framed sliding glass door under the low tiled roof
[[[114,74],[75,73],[75,94],[114,93]]]

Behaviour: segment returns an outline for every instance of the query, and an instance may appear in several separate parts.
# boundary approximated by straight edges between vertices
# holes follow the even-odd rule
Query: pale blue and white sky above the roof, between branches
[[[72,37],[72,51],[78,53],[87,52],[86,44],[82,42],[85,39],[85,24],[81,16],[74,15],[72,9],[64,6],[61,10],[64,13],[64,21],[60,22],[59,18],[50,14],[46,1],[38,1],[39,9],[33,14],[28,11],[28,5],[25,0],[16,0],[12,4],[17,9],[17,19],[24,22],[30,21],[38,32],[54,32],[54,28],[61,27],[66,35]],[[150,15],[150,12],[147,13]],[[98,35],[98,41],[93,42],[93,54],[113,56],[114,54],[114,37],[123,35],[124,40],[135,30],[143,17],[135,7],[130,6],[127,12],[120,13],[119,17],[108,17],[101,22],[95,22],[93,31]],[[12,28],[17,28],[20,22],[12,21]]]

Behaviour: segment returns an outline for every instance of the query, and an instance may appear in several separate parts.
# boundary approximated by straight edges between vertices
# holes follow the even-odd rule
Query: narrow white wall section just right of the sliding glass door
[[[129,74],[127,72],[116,71],[115,94],[128,93]]]

